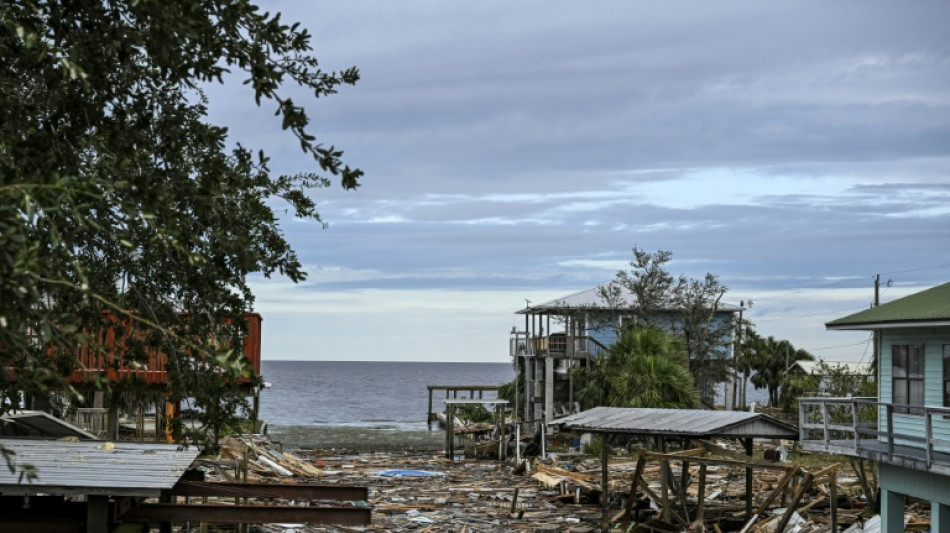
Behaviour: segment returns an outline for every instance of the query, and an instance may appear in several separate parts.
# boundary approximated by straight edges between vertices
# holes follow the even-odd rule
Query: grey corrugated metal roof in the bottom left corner
[[[0,439],[0,446],[16,453],[18,465],[37,470],[37,479],[27,483],[2,465],[4,494],[158,496],[175,485],[199,453],[195,447],[142,442]]]

